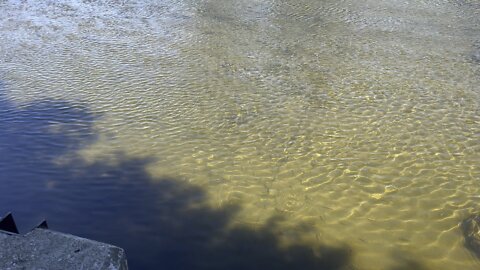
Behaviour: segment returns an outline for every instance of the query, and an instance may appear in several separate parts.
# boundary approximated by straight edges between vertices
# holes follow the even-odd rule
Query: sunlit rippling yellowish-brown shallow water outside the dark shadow
[[[478,1],[1,1],[1,95],[95,115],[56,164],[149,158],[358,269],[477,269],[479,29]]]

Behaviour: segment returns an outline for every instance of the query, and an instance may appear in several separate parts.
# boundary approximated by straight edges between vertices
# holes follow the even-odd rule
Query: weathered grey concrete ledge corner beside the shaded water
[[[122,248],[46,229],[0,231],[0,269],[127,270]]]

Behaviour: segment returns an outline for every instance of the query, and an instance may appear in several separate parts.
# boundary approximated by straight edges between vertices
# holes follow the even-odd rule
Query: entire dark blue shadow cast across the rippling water
[[[232,226],[239,205],[212,208],[203,188],[152,179],[151,160],[56,163],[95,141],[79,104],[14,106],[0,86],[0,211],[23,232],[42,217],[58,231],[119,245],[131,269],[353,269],[347,246],[282,245],[281,217]],[[22,227],[24,226],[24,227]]]

